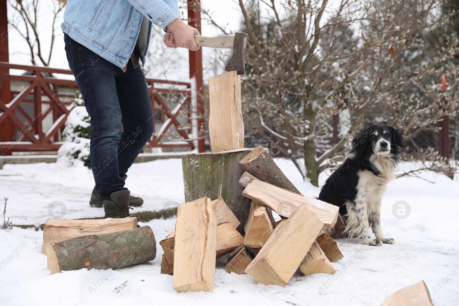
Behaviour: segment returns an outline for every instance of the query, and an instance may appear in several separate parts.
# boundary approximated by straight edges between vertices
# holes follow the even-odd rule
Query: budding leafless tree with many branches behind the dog
[[[342,0],[331,9],[327,0],[239,0],[250,42],[250,68],[242,82],[246,126],[256,128],[315,186],[319,173],[342,160],[350,139],[365,126],[390,124],[407,140],[426,129],[437,131],[436,123],[453,115],[459,101],[459,68],[451,61],[459,55],[457,37],[425,56],[426,33],[452,16],[440,16],[441,5]],[[229,32],[208,11],[203,15]],[[442,74],[450,78],[448,91],[436,85]],[[336,115],[348,120],[340,120],[341,139],[332,142]],[[438,160],[433,150],[422,154],[426,161]],[[442,167],[433,168],[443,171],[447,161],[439,161]]]

